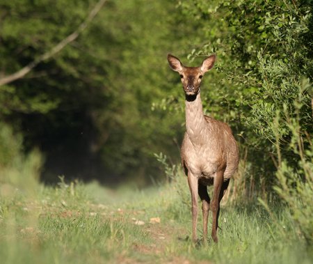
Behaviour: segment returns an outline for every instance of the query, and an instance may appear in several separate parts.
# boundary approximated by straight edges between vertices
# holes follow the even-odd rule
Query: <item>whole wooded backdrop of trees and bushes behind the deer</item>
[[[283,160],[312,158],[312,25],[312,1],[2,0],[0,180],[166,180],[184,134],[166,55],[216,53],[205,113],[239,141],[243,192],[266,194]]]

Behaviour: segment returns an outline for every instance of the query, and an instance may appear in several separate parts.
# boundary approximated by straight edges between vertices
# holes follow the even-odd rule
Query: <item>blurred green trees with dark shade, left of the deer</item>
[[[95,3],[1,2],[0,76],[49,51]],[[23,134],[26,150],[45,153],[44,180],[132,176],[145,184],[159,172],[153,153],[177,160],[183,116],[152,107],[177,100],[166,54],[191,49],[184,36],[198,36],[187,22],[177,25],[175,10],[168,1],[108,1],[77,40],[0,87],[0,118]]]

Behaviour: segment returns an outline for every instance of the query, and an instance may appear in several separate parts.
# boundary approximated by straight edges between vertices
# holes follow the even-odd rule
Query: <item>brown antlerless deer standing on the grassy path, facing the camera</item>
[[[216,55],[208,56],[200,67],[186,67],[168,54],[170,68],[178,72],[185,94],[186,132],[182,141],[181,160],[191,192],[192,240],[197,238],[198,195],[202,201],[203,242],[207,243],[209,210],[212,212],[211,238],[218,242],[218,217],[230,178],[239,164],[239,148],[231,128],[203,113],[200,97],[202,77],[211,70]],[[212,200],[207,186],[213,185]]]

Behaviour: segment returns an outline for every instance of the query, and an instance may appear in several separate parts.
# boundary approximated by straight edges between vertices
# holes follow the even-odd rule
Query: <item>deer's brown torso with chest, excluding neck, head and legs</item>
[[[182,165],[199,178],[210,182],[216,171],[225,169],[224,179],[231,178],[239,162],[239,151],[232,130],[223,122],[204,116],[200,134],[185,133]]]

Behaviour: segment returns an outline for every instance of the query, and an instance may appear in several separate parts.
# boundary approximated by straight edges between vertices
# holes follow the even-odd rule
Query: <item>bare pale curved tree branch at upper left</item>
[[[76,31],[74,31],[72,34],[61,40],[61,42],[58,42],[56,46],[54,46],[52,49],[50,49],[48,52],[45,52],[44,54],[40,55],[37,59],[26,65],[21,70],[18,70],[17,72],[13,73],[12,75],[8,75],[6,77],[0,78],[0,86],[3,86],[4,84],[9,84],[12,81],[15,81],[17,79],[21,79],[24,77],[27,73],[29,73],[35,66],[37,66],[42,61],[45,61],[51,56],[54,56],[54,54],[58,53],[63,49],[65,46],[70,44],[70,42],[73,42],[77,39],[79,34],[86,29],[88,24],[95,18],[97,13],[99,13],[99,10],[101,10],[102,6],[107,0],[99,0],[93,10],[90,11],[88,17],[86,20],[79,25]]]

